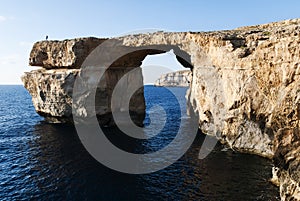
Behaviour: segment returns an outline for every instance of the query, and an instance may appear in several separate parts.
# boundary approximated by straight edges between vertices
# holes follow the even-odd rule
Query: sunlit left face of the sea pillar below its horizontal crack
[[[33,70],[22,77],[35,110],[50,122],[71,121],[72,84],[78,69]]]

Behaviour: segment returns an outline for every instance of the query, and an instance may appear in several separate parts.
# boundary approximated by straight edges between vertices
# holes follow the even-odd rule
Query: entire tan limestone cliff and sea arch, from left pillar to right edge
[[[300,200],[300,19],[230,31],[157,32],[110,40],[118,50],[131,50],[115,63],[125,71],[126,66],[140,66],[146,55],[173,49],[178,61],[192,69],[188,108],[199,116],[200,129],[232,149],[273,158],[282,200]],[[86,55],[103,41],[87,38],[34,45],[30,65],[43,69],[22,79],[40,114],[71,118],[74,77],[80,76]],[[111,74],[117,78],[106,76],[110,87],[102,91],[107,95],[99,97],[100,119],[110,114],[112,80],[123,72],[112,68]],[[142,91],[138,94],[132,110],[143,114]]]

